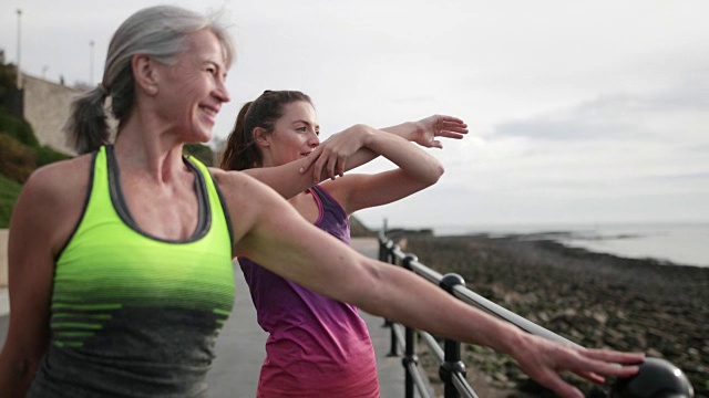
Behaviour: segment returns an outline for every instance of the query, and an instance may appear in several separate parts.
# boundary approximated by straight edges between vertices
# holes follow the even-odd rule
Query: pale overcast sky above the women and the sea
[[[157,3],[6,0],[0,49],[17,63],[21,9],[23,71],[95,84],[113,31]],[[228,12],[238,59],[216,137],[266,88],[309,94],[323,137],[467,122],[463,142],[430,150],[441,181],[361,211],[370,227],[709,222],[709,1],[167,3]]]

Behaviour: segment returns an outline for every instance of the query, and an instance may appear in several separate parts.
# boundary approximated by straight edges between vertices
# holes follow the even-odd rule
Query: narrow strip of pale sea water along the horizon
[[[709,223],[616,223],[547,226],[443,226],[435,235],[524,234],[624,258],[709,266]]]

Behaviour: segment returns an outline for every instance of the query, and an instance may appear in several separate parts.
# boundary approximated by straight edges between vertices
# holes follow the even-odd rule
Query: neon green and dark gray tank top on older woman
[[[234,305],[232,233],[194,158],[199,219],[183,241],[151,237],[125,205],[113,147],[94,154],[85,208],[60,253],[51,344],[29,397],[206,397]]]

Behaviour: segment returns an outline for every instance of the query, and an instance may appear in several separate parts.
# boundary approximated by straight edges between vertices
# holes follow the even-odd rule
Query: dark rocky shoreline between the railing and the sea
[[[586,347],[641,350],[681,368],[696,397],[709,397],[709,268],[625,259],[528,235],[408,234],[400,245],[441,272],[463,276],[486,298]],[[428,360],[431,379],[438,365]],[[481,397],[553,397],[506,356],[466,347]],[[607,386],[569,380],[587,397]],[[482,394],[482,392],[479,392]]]

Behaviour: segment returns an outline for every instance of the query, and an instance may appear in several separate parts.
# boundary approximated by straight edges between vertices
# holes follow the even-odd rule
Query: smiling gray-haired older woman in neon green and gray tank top
[[[369,313],[510,354],[564,397],[582,395],[559,373],[600,381],[637,371],[623,364],[643,354],[528,335],[349,249],[245,172],[184,157],[183,145],[212,137],[233,59],[218,22],[177,7],[141,10],[115,32],[102,86],[68,124],[83,155],[32,174],[14,208],[2,397],[206,397],[236,255]],[[277,172],[291,174],[294,189],[335,177],[345,159],[371,155],[362,132],[377,134],[353,126]]]

